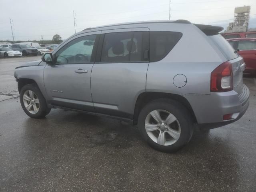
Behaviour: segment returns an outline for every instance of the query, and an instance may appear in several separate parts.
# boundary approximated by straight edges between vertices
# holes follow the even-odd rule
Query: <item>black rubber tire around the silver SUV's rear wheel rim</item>
[[[154,142],[147,134],[145,129],[146,116],[153,110],[166,110],[173,114],[180,124],[180,137],[171,145],[164,146]],[[186,145],[193,134],[193,121],[190,112],[179,102],[170,99],[154,100],[140,111],[138,117],[138,128],[142,138],[154,149],[162,152],[176,152]]]

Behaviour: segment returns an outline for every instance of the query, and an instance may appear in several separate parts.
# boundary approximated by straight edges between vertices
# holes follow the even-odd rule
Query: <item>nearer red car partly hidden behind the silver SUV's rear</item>
[[[256,74],[256,38],[227,39],[238,54],[244,58],[246,69],[244,73]]]

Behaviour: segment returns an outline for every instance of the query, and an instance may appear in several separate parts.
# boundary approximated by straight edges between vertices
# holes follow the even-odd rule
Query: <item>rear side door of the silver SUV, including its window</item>
[[[149,29],[103,30],[92,68],[96,112],[132,118],[138,95],[146,91]]]

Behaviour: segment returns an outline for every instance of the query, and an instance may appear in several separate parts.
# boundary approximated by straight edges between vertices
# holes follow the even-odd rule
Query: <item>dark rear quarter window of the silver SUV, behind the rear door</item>
[[[150,31],[150,62],[163,59],[181,37],[180,32]]]

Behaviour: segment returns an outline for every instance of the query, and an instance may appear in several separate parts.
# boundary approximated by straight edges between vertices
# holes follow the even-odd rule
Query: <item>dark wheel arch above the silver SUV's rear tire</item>
[[[194,114],[194,111],[193,111],[190,103],[183,96],[178,95],[178,94],[171,94],[171,93],[143,92],[138,96],[138,98],[136,100],[136,104],[135,104],[135,108],[134,108],[134,124],[137,124],[140,110],[142,110],[142,108],[146,104],[148,104],[149,102],[151,102],[153,100],[157,100],[157,99],[161,99],[161,98],[172,99],[172,100],[175,100],[175,101],[181,103],[190,112],[193,122],[197,123],[196,116]]]

